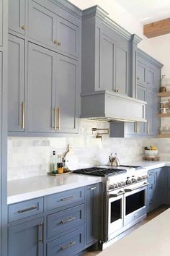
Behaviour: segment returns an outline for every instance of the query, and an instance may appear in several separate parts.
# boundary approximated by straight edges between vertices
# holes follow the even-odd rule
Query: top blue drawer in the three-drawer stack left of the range
[[[80,202],[81,200],[84,200],[84,187],[49,195],[47,197],[47,208],[48,210],[52,210],[73,202]]]

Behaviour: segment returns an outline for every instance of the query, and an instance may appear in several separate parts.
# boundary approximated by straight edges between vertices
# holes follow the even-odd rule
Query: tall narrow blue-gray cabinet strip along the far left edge
[[[6,205],[6,156],[7,156],[7,15],[6,0],[0,0],[0,256],[6,256],[7,205]]]

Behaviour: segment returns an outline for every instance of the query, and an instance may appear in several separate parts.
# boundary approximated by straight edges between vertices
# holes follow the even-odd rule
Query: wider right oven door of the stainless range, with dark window
[[[125,188],[124,226],[146,216],[147,182]]]

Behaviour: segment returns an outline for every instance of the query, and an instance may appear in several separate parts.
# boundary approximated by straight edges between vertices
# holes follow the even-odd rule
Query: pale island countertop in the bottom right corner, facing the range
[[[169,256],[170,208],[97,256]]]

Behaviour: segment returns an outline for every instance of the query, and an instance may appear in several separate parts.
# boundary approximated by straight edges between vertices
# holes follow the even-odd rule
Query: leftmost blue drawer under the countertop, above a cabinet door
[[[27,218],[38,213],[43,213],[43,210],[44,205],[42,197],[25,202],[19,202],[14,205],[9,205],[8,220],[9,222],[17,221],[21,218]]]

